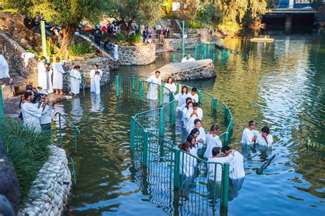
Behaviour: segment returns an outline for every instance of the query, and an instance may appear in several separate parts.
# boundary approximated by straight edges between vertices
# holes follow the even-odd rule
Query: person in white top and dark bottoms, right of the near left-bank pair
[[[42,115],[40,116],[40,127],[42,131],[49,131],[51,132],[51,122],[53,121],[53,109],[55,103],[52,103],[47,98],[49,92],[47,90],[40,91],[40,101],[41,107],[43,107]]]

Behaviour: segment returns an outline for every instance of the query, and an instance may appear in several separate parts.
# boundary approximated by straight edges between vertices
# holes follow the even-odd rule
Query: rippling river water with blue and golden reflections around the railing
[[[246,176],[228,203],[228,215],[325,215],[324,150],[306,148],[306,139],[325,140],[325,38],[274,39],[269,44],[226,40],[226,46],[248,53],[248,58],[230,54],[226,65],[216,65],[216,79],[187,84],[226,103],[234,118],[230,146],[244,155]],[[150,66],[121,67],[111,73],[112,80],[115,75],[148,75],[170,62],[171,55],[158,55]],[[178,206],[166,209],[153,202],[154,192],[139,183],[129,150],[130,117],[146,107],[117,100],[113,88],[110,84],[100,96],[87,92],[85,98],[56,107],[82,131],[73,155],[77,185],[69,215],[181,214],[175,211]],[[249,120],[258,129],[269,126],[272,148],[242,148],[241,133]],[[207,131],[209,126],[204,127]],[[72,141],[73,131],[64,130],[63,139]],[[72,152],[72,143],[65,148]],[[272,163],[256,175],[256,167],[273,154]]]

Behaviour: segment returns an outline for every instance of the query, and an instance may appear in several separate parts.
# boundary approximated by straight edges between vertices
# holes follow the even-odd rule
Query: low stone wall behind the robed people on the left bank
[[[96,59],[88,59],[81,62],[67,62],[64,64],[64,70],[71,70],[74,66],[79,65],[81,74],[85,77],[89,77],[89,73],[93,69],[95,64],[99,65],[99,68],[103,71],[103,77],[101,77],[101,85],[104,85],[110,81],[110,66],[109,59],[107,57],[99,57]],[[90,87],[87,85],[86,87]]]

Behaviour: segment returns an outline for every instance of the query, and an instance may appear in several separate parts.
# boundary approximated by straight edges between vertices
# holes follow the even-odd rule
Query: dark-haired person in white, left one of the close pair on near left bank
[[[40,116],[42,116],[43,107],[40,107],[40,103],[31,103],[31,100],[34,98],[34,92],[26,91],[24,96],[25,99],[21,104],[24,125],[35,132],[40,132]]]

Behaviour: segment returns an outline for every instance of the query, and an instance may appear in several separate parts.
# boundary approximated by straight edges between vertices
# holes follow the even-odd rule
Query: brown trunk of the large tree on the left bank
[[[64,56],[65,59],[69,57],[70,46],[75,42],[75,30],[76,24],[62,25],[62,45],[59,53]]]

